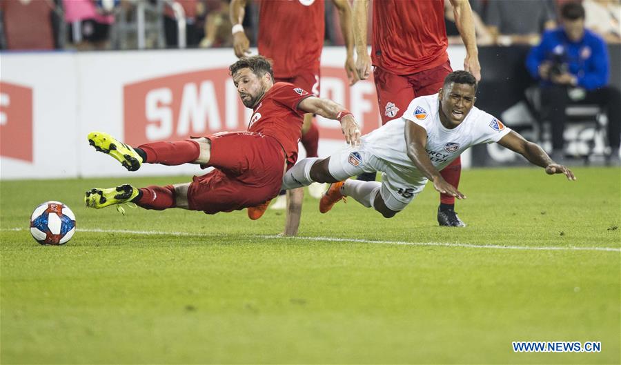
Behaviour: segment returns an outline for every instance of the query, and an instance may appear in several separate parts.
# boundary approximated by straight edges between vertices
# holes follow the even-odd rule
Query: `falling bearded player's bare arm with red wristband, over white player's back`
[[[297,108],[304,112],[312,112],[324,118],[339,121],[347,143],[351,146],[360,144],[360,127],[353,114],[341,104],[320,97],[307,97],[299,102]]]

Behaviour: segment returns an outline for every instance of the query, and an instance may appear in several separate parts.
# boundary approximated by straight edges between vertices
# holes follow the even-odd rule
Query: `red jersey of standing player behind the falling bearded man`
[[[319,68],[324,46],[324,0],[262,0],[259,55],[274,61],[274,77]]]

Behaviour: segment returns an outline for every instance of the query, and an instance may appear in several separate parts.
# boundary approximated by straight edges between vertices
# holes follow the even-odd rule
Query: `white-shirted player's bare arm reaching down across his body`
[[[425,128],[406,119],[405,137],[408,157],[427,179],[433,181],[433,188],[442,194],[452,195],[457,199],[466,199],[466,195],[463,195],[455,186],[446,182],[431,163],[431,159],[429,159],[429,155],[427,155],[425,150],[427,144],[427,131]]]

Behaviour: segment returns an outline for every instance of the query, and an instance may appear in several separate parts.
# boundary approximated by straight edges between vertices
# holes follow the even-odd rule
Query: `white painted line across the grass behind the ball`
[[[26,230],[26,228],[7,228],[2,230]],[[187,232],[164,232],[158,230],[122,230],[122,229],[99,229],[99,228],[78,228],[77,232],[87,233],[124,233],[127,235],[167,235],[177,237],[205,237],[203,233]],[[459,247],[459,248],[484,248],[495,250],[535,250],[535,251],[611,251],[621,252],[621,248],[614,247],[575,247],[575,246],[502,246],[502,245],[475,245],[457,244],[444,242],[407,242],[407,241],[377,241],[373,239],[359,238],[336,238],[336,237],[282,237],[278,235],[250,235],[249,237],[264,239],[303,239],[306,241],[324,242],[355,242],[360,244],[393,244],[404,246],[437,246],[437,247]]]

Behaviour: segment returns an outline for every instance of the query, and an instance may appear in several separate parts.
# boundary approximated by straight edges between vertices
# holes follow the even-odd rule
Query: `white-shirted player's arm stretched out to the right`
[[[564,174],[568,180],[575,180],[575,176],[569,168],[552,161],[546,151],[538,144],[526,141],[524,137],[513,130],[508,135],[502,137],[498,144],[524,156],[531,164],[545,168],[548,175]]]

